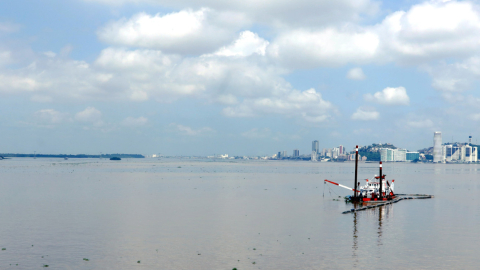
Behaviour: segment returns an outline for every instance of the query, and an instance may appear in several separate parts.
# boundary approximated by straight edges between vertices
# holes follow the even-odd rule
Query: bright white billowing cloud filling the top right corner
[[[392,13],[377,31],[402,62],[465,56],[478,52],[480,13],[472,2],[428,1]]]

